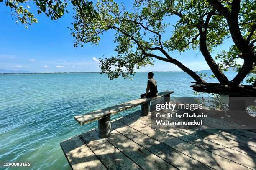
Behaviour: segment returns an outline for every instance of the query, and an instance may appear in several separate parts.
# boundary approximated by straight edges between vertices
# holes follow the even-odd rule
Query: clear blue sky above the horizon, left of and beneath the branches
[[[0,68],[36,72],[100,72],[98,58],[115,54],[114,31],[103,35],[97,46],[87,44],[75,49],[74,38],[68,28],[72,26],[72,12],[52,21],[44,14],[37,15],[36,8],[29,5],[38,23],[26,29],[12,20],[8,7],[0,4]],[[226,49],[230,44],[226,42],[221,49]],[[209,69],[200,52],[173,52],[171,56],[192,70]],[[181,70],[173,64],[155,60],[153,67],[143,67],[137,71]]]

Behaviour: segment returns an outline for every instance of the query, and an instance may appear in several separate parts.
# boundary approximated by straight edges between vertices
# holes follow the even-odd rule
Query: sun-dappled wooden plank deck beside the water
[[[108,138],[91,130],[61,142],[74,170],[256,169],[256,133],[230,129],[239,127],[236,123],[211,118],[204,130],[155,129],[150,115],[137,111],[111,125]]]

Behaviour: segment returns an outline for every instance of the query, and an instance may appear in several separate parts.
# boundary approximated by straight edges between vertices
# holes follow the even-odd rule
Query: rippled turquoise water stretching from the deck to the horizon
[[[226,75],[231,79],[236,72]],[[159,92],[194,97],[189,87],[194,80],[186,73],[155,72],[154,77]],[[138,72],[133,81],[109,80],[100,73],[0,75],[0,169],[3,162],[30,162],[23,170],[70,169],[59,142],[97,128],[97,122],[79,126],[74,115],[136,99],[146,82],[146,72]]]

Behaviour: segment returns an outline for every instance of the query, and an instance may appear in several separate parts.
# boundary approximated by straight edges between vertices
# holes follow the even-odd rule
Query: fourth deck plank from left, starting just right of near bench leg
[[[121,119],[120,119],[121,120]],[[112,124],[112,128],[114,128],[119,133],[125,135],[125,137],[133,140],[134,142],[141,145],[143,148],[146,148],[150,152],[154,153],[155,155],[159,156],[166,162],[174,165],[175,167],[179,168],[180,170],[188,170],[188,169],[203,169],[203,170],[210,170],[212,168],[208,167],[207,165],[200,163],[199,161],[190,158],[183,153],[165,145],[164,143],[155,140],[138,130],[131,128],[123,124],[122,122],[115,121]]]

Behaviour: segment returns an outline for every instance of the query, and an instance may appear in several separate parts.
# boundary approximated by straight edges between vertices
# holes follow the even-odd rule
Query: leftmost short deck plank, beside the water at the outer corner
[[[74,170],[107,170],[79,136],[60,143],[67,161]]]

